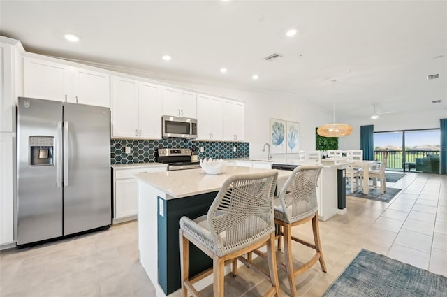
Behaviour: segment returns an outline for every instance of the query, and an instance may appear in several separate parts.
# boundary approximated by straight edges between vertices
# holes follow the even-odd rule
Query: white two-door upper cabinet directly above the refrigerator
[[[110,107],[110,75],[24,57],[24,96]]]

